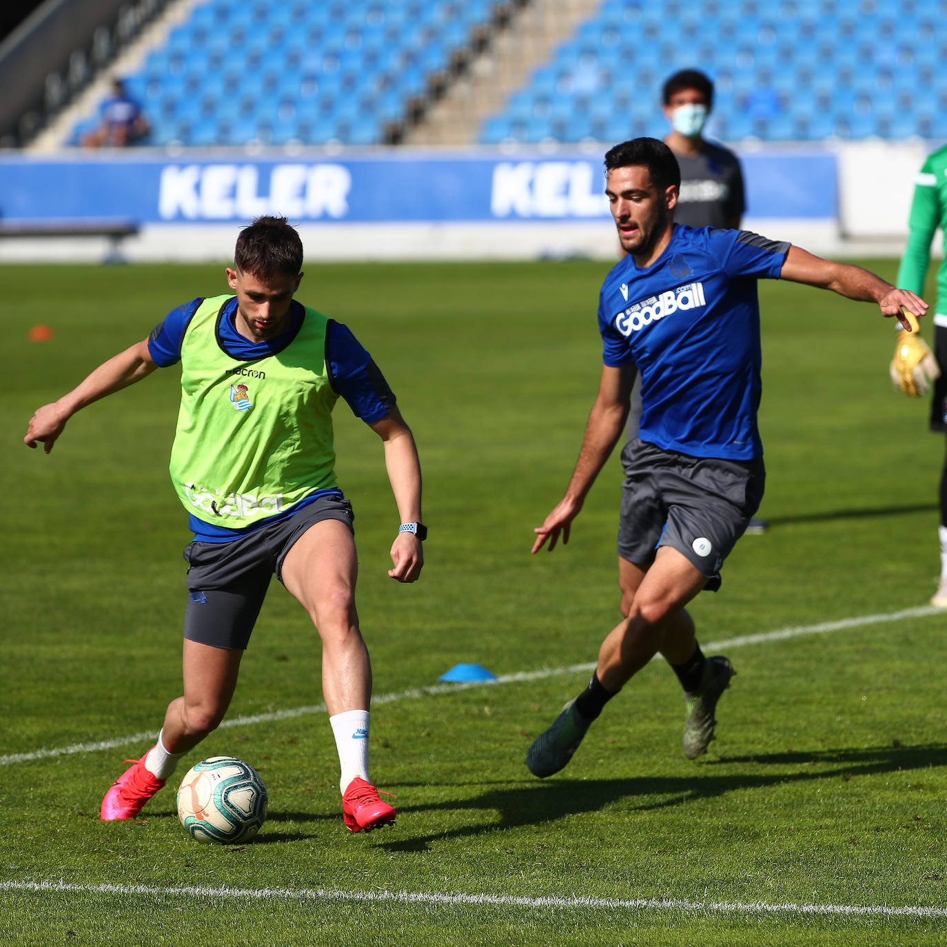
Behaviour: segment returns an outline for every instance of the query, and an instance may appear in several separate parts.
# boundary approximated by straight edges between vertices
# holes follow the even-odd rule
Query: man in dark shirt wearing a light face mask
[[[674,223],[739,230],[745,209],[737,155],[703,136],[713,105],[713,83],[697,69],[674,73],[664,83],[664,141],[681,166],[681,196]]]

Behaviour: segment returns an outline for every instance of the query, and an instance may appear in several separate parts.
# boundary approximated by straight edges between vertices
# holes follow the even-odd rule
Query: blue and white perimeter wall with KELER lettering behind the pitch
[[[69,152],[0,156],[0,234],[98,221],[140,227],[124,259],[225,260],[242,223],[284,213],[311,259],[608,259],[601,153]],[[900,252],[926,148],[741,151],[744,225],[832,256]],[[104,259],[103,238],[0,239],[0,260]]]

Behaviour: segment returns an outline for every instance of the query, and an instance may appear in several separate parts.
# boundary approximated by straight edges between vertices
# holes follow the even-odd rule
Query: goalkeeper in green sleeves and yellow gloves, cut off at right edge
[[[947,147],[928,155],[915,179],[914,198],[908,221],[909,234],[898,285],[921,293],[931,259],[931,242],[938,227],[947,228]],[[947,260],[938,268],[938,306],[934,314],[934,353],[918,334],[898,332],[891,364],[894,384],[906,394],[920,396],[933,389],[930,427],[947,432],[947,377],[939,366],[947,364]],[[936,355],[936,357],[935,357]],[[940,580],[931,604],[947,608],[947,457],[940,473]]]

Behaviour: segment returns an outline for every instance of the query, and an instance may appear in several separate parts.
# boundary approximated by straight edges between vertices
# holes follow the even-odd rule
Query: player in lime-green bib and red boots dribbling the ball
[[[184,694],[152,748],[117,778],[102,819],[134,818],[179,759],[223,720],[271,577],[306,609],[322,639],[322,688],[341,765],[349,831],[395,821],[368,772],[371,668],[355,610],[352,509],[334,473],[331,410],[341,395],[382,438],[402,526],[388,575],[423,564],[421,477],[395,396],[348,329],[296,302],[303,248],[280,217],[241,230],[231,293],[178,307],[151,336],[41,407],[27,446],[48,454],[80,408],[181,364],[170,474],[190,516],[185,549]]]

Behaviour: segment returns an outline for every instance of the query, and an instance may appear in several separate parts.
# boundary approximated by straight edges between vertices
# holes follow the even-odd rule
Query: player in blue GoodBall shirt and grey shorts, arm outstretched
[[[878,304],[927,304],[867,270],[831,262],[745,230],[674,223],[680,170],[670,148],[636,138],[605,155],[606,195],[628,256],[599,295],[604,354],[599,394],[563,499],[537,527],[533,553],[568,542],[573,519],[620,437],[640,371],[639,437],[622,452],[618,527],[624,616],[599,649],[589,685],[527,752],[534,776],[559,772],[610,700],[656,654],[685,692],[684,752],[713,739],[714,713],[734,674],[705,657],[685,606],[720,586],[720,569],[759,506],[765,471],[757,428],[757,280],[790,279]]]

